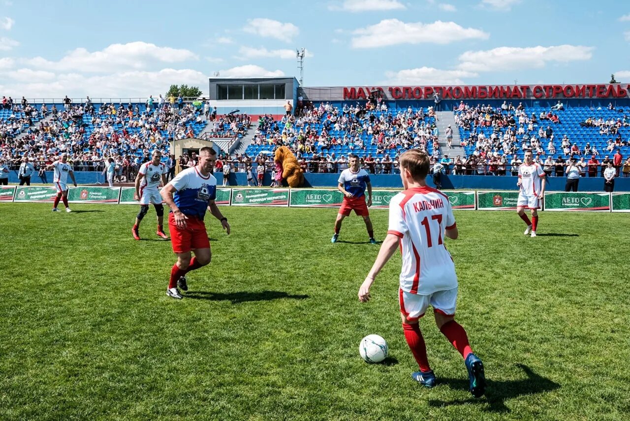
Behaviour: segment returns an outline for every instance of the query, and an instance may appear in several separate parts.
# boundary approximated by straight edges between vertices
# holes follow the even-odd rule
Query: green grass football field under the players
[[[174,255],[151,209],[0,205],[0,419],[602,420],[630,412],[627,214],[455,211],[446,239],[457,320],[484,360],[474,400],[461,356],[421,320],[438,376],[417,368],[398,315],[397,253],[358,303],[377,255],[358,217],[331,244],[335,209],[226,207],[213,260],[166,296]],[[387,211],[372,212],[377,238]],[[386,364],[358,343],[377,333]]]

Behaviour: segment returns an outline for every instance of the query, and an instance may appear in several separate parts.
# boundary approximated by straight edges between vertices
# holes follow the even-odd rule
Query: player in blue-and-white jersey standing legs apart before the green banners
[[[338,180],[339,184],[337,188],[343,193],[343,202],[341,202],[341,207],[339,208],[339,213],[335,221],[335,234],[330,241],[331,243],[337,242],[343,218],[350,216],[350,212],[354,210],[355,214],[363,217],[367,234],[370,236],[370,243],[376,244],[372,221],[370,221],[370,211],[367,210],[368,206],[372,206],[372,184],[370,183],[370,176],[367,171],[359,168],[357,155],[348,155],[348,164],[350,164],[350,168],[341,171]],[[365,203],[366,189],[368,194],[367,204]]]

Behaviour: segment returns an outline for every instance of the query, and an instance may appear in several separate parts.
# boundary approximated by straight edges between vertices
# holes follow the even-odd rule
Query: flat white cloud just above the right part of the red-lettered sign
[[[594,47],[557,45],[552,47],[498,47],[467,51],[459,56],[458,69],[471,72],[503,71],[544,67],[547,62],[590,60]]]

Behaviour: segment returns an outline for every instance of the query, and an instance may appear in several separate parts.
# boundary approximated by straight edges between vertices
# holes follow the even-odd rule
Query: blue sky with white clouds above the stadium
[[[630,2],[0,0],[0,95],[207,91],[300,47],[305,86],[630,82]]]

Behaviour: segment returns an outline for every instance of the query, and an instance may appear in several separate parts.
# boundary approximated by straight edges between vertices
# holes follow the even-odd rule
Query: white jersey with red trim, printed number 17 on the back
[[[392,197],[387,234],[400,238],[403,291],[428,295],[457,287],[455,264],[444,245],[444,230],[452,228],[449,198],[435,188],[408,188]]]

